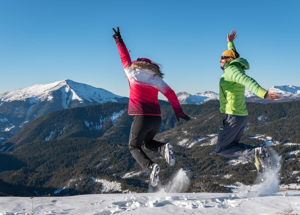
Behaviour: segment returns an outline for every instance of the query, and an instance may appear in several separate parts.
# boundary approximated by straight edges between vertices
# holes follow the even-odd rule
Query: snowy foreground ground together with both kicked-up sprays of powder
[[[272,164],[258,175],[255,183],[237,183],[231,186],[233,193],[182,193],[190,178],[181,169],[168,184],[149,188],[149,193],[0,197],[0,215],[300,214],[300,191],[278,192],[281,156],[272,149],[269,154]]]

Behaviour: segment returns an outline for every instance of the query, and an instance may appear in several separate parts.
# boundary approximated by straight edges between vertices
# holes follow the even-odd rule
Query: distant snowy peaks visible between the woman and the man
[[[212,91],[205,91],[204,93],[196,93],[191,95],[187,92],[180,92],[176,94],[180,104],[202,104],[209,100],[219,99],[219,94]]]

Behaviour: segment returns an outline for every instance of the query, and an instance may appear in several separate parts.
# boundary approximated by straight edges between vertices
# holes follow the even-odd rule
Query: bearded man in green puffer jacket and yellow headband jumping
[[[228,50],[222,53],[219,60],[224,73],[220,78],[220,111],[226,113],[219,130],[216,152],[232,159],[253,162],[259,173],[268,157],[267,146],[251,146],[239,143],[248,122],[248,112],[245,103],[245,86],[258,97],[268,100],[279,99],[280,95],[270,93],[259,86],[251,77],[246,75],[249,69],[246,59],[239,57],[233,40],[235,31],[227,34]]]

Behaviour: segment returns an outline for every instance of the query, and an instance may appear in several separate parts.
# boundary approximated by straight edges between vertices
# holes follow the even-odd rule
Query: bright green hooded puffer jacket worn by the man
[[[228,43],[228,50],[235,49],[234,43]],[[220,111],[222,113],[246,116],[245,86],[258,97],[264,98],[268,92],[251,77],[246,75],[249,63],[244,58],[236,58],[224,66],[224,73],[220,78]]]

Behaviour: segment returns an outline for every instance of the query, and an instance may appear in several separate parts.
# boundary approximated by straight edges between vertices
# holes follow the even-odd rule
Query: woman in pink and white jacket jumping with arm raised
[[[158,104],[158,91],[171,103],[176,117],[190,120],[182,111],[174,91],[163,81],[163,73],[157,63],[138,58],[131,62],[130,55],[120,35],[119,27],[113,28],[122,65],[129,81],[128,114],[134,115],[129,136],[129,151],[144,171],[150,174],[152,186],[159,182],[159,165],[155,164],[142,150],[149,149],[164,155],[169,166],[175,164],[173,146],[153,140],[161,126],[161,109]]]

